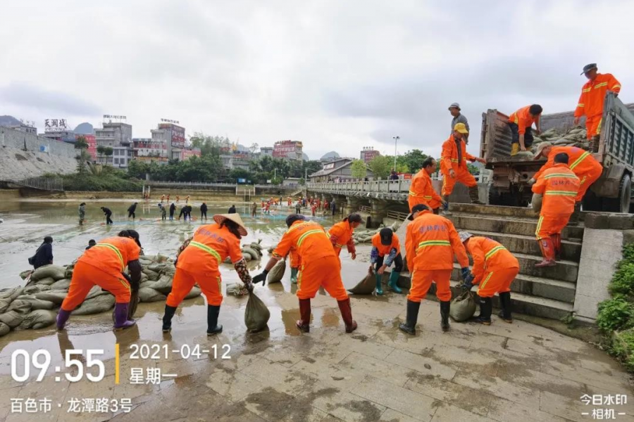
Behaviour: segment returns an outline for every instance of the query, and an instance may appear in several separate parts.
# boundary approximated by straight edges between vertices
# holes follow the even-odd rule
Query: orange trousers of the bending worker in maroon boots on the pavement
[[[337,257],[324,257],[318,261],[302,262],[297,273],[297,298],[312,299],[323,287],[337,300],[345,300],[348,293],[341,281],[341,264]]]

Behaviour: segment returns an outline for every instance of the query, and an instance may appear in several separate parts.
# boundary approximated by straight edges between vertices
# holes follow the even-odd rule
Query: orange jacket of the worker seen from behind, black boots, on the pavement
[[[454,224],[429,210],[418,214],[407,226],[405,250],[410,269],[452,269],[454,255],[460,267],[469,266],[464,245]]]

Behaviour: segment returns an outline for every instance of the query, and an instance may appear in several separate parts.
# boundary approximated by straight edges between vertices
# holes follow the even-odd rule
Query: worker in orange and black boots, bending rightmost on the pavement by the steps
[[[511,283],[519,272],[517,258],[490,238],[473,236],[466,231],[461,231],[459,235],[464,248],[473,257],[471,274],[466,277],[462,287],[471,290],[473,286],[480,285],[480,315],[473,321],[491,325],[491,298],[495,293],[499,293],[499,303],[502,307],[499,317],[511,324]]]

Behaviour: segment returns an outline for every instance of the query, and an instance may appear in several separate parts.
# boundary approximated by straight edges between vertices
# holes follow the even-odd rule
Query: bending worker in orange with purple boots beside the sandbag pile
[[[68,295],[57,315],[57,328],[64,328],[70,312],[84,301],[95,284],[115,296],[114,328],[135,325],[128,311],[132,290],[138,292],[141,281],[140,252],[141,242],[135,230],[120,231],[117,237],[101,239],[86,250],[73,269]],[[129,278],[123,274],[125,267],[130,270]],[[133,306],[136,307],[136,302]]]

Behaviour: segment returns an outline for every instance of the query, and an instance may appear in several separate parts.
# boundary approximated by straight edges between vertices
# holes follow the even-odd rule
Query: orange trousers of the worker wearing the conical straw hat
[[[192,291],[194,284],[198,284],[207,298],[207,305],[220,306],[223,302],[222,282],[219,272],[189,272],[177,268],[172,281],[172,291],[168,295],[166,305],[178,307],[187,293]]]

